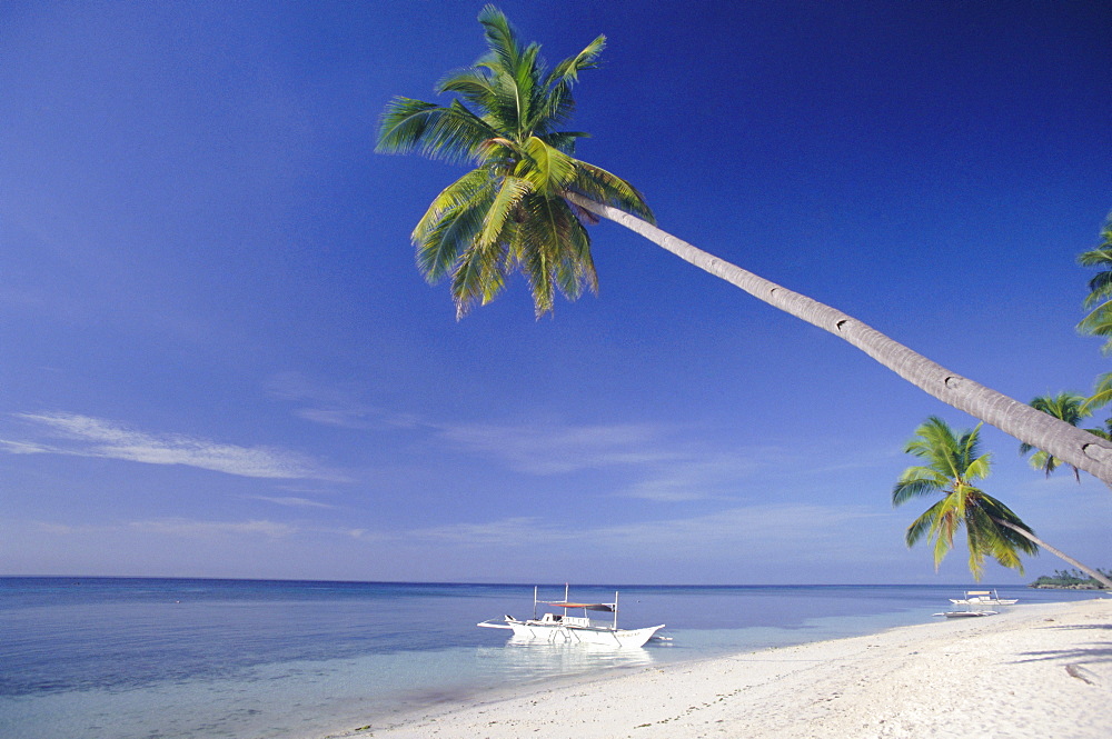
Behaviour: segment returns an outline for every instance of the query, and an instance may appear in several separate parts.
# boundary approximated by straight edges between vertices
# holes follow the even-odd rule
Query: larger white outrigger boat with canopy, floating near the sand
[[[537,618],[537,605],[544,603],[553,608],[563,608],[563,613],[545,613]],[[568,610],[583,609],[583,616],[569,616]],[[613,620],[600,621],[592,619],[590,611],[614,613]],[[582,643],[602,647],[644,647],[645,642],[656,636],[664,625],[649,626],[644,629],[618,628],[618,593],[614,593],[613,603],[577,603],[567,599],[567,586],[564,586],[564,600],[537,600],[537,589],[533,588],[533,618],[519,620],[513,616],[504,617],[504,621],[483,621],[478,623],[486,629],[510,629],[514,640],[545,641],[548,643]]]

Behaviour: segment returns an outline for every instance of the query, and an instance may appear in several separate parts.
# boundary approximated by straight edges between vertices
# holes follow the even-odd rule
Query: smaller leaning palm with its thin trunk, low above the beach
[[[991,456],[981,452],[980,432],[980,425],[955,432],[941,418],[932,416],[904,447],[905,452],[925,463],[904,470],[892,489],[892,505],[942,496],[907,527],[907,546],[914,546],[925,536],[934,546],[934,567],[937,569],[953,549],[954,535],[964,528],[970,571],[977,580],[984,572],[986,557],[1022,572],[1020,553],[1035,555],[1042,547],[1112,589],[1109,578],[1048,545],[1007,506],[976,487],[977,481],[989,476],[992,463]]]

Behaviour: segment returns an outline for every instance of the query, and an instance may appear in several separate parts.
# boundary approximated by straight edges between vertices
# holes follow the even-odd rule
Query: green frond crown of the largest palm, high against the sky
[[[596,219],[569,193],[653,216],[632,184],[573,157],[586,133],[558,130],[575,109],[572,86],[595,67],[606,38],[549,70],[539,44],[523,47],[498,9],[485,7],[478,20],[487,54],[436,87],[459,99],[438,106],[395,98],[383,113],[377,150],[475,164],[414,229],[418,267],[430,282],[451,278],[457,317],[493,300],[520,271],[539,317],[553,309],[556,290],[570,300],[585,287],[597,290],[585,228]]]

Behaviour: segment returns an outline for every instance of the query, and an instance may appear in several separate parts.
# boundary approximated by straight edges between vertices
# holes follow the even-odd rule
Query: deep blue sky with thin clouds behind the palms
[[[463,170],[373,149],[481,6],[0,9],[0,573],[970,581],[890,491],[974,419],[620,227],[597,298],[455,320],[408,234]],[[607,36],[578,154],[665,230],[1020,400],[1110,369],[1073,330],[1108,3],[500,7],[550,61]],[[984,439],[990,493],[1112,566],[1106,487]]]

